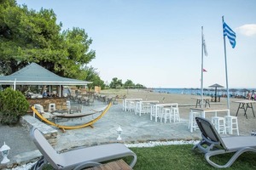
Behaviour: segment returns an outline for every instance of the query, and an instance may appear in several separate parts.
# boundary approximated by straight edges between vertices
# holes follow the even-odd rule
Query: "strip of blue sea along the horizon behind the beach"
[[[192,94],[201,95],[201,88],[153,88],[151,89],[155,93],[166,94]],[[217,88],[216,94],[218,96],[224,96],[227,94],[226,88]],[[230,88],[230,96],[247,96],[248,92],[256,92],[256,88]],[[207,96],[215,95],[215,88],[204,88],[203,94]]]

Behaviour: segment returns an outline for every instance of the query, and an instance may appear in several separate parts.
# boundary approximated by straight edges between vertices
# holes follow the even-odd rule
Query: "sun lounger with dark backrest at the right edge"
[[[231,136],[221,138],[212,123],[205,118],[195,117],[201,130],[201,142],[195,144],[193,150],[205,153],[205,158],[213,167],[230,167],[242,153],[247,151],[256,152],[256,139],[253,136]],[[226,153],[234,153],[224,165],[218,165],[210,160],[211,156]]]

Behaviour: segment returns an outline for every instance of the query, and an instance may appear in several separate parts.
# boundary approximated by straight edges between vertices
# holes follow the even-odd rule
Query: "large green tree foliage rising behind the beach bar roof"
[[[59,76],[84,79],[84,65],[95,59],[84,29],[61,32],[52,9],[29,10],[15,0],[0,3],[0,74],[36,62]]]

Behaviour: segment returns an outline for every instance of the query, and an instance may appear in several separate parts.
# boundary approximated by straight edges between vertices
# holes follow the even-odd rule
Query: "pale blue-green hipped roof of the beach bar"
[[[27,65],[9,76],[0,77],[2,85],[86,85],[88,83],[91,82],[60,77],[36,63]]]

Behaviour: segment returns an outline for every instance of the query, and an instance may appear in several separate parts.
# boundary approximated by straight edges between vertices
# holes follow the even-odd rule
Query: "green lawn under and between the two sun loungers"
[[[193,144],[165,145],[150,148],[130,148],[137,154],[134,170],[170,170],[170,169],[216,169],[204,158],[204,154],[192,150]],[[214,156],[212,160],[225,164],[232,154]],[[130,158],[124,158],[131,162]],[[233,165],[226,169],[250,170],[256,169],[256,154],[247,152],[239,156]],[[52,169],[48,166],[45,169]]]

